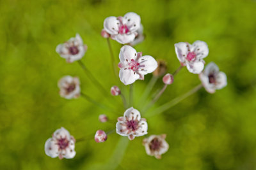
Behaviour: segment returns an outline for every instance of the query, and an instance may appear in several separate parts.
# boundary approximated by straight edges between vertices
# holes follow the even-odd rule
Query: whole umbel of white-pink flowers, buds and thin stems
[[[210,62],[204,69],[204,59],[209,54],[208,45],[204,41],[198,40],[192,45],[187,42],[175,43],[174,50],[181,66],[171,74],[166,73],[167,64],[164,60],[156,61],[154,57],[150,55],[142,55],[142,52],[137,52],[132,47],[144,40],[143,26],[141,25],[141,18],[138,14],[129,12],[126,13],[124,17],[108,17],[104,20],[103,25],[104,29],[102,30],[101,35],[108,39],[108,45],[109,38],[122,44],[119,53],[120,62],[118,64],[113,60],[114,56],[112,55],[110,45],[109,50],[114,63],[113,70],[115,71],[115,67],[117,66],[120,68],[119,78],[124,85],[131,85],[132,87],[132,83],[136,80],[144,80],[146,74],[153,73],[152,80],[150,80],[150,84],[145,89],[145,94],[143,94],[141,101],[146,103],[147,100],[145,99],[150,93],[150,90],[152,90],[154,83],[156,83],[158,78],[162,77],[163,89],[158,90],[158,93],[149,104],[145,104],[145,108],[141,111],[143,114],[147,114],[147,109],[156,103],[157,99],[159,99],[163,94],[168,85],[172,85],[174,76],[184,66],[187,67],[190,73],[199,74],[202,85],[198,87],[203,86],[209,93],[214,93],[216,89],[222,89],[227,85],[226,74],[220,72],[218,66],[214,64],[214,62]],[[70,38],[68,41],[58,45],[56,48],[56,52],[66,59],[67,62],[70,63],[77,60],[85,73],[88,74],[88,78],[90,78],[92,83],[95,83],[95,87],[105,90],[99,81],[97,81],[97,78],[90,73],[90,70],[88,70],[81,61],[86,50],[87,46],[83,44],[83,40],[79,34],[76,34],[75,38]],[[58,87],[60,88],[60,96],[65,99],[74,99],[82,96],[88,102],[91,102],[100,108],[108,109],[108,111],[111,110],[108,106],[93,100],[93,98],[88,96],[87,93],[81,93],[80,81],[76,76],[63,76],[63,78],[58,81]],[[132,89],[131,87],[130,90]],[[198,87],[192,90],[192,92],[196,92],[196,90],[200,89]],[[126,97],[120,89],[122,88],[114,85],[111,87],[110,92],[112,96],[120,96],[122,98],[125,108],[124,116],[118,117],[116,122],[116,119],[111,120],[105,114],[99,115],[99,122],[108,122],[110,124],[114,122],[115,125],[113,125],[114,129],[109,132],[98,130],[94,135],[96,143],[105,142],[108,139],[108,135],[113,131],[116,131],[116,134],[119,134],[120,136],[127,136],[130,140],[133,140],[135,137],[145,136],[148,134],[147,120],[145,118],[141,118],[140,111],[134,109],[132,104],[130,104],[129,107],[127,106]],[[193,94],[192,92],[189,92],[188,94]],[[130,91],[129,98],[130,103],[132,103],[132,90]],[[176,101],[173,99],[173,101],[175,103],[177,99]],[[170,103],[173,103],[173,101],[170,101]],[[115,103],[116,107],[118,107],[117,105],[118,104]],[[166,103],[164,107],[160,108],[163,111],[163,108],[168,109],[169,105],[171,106],[172,104]],[[145,115],[143,115],[143,117],[144,116]],[[93,137],[90,136],[90,138]],[[77,141],[83,140],[84,138],[78,139]],[[74,137],[70,136],[69,132],[65,128],[61,127],[61,129],[57,129],[52,134],[52,138],[47,139],[45,142],[45,153],[52,158],[59,157],[60,159],[71,159],[76,155],[74,150],[75,142],[76,140]],[[145,146],[146,153],[156,157],[156,159],[161,159],[161,155],[166,153],[169,148],[166,141],[166,134],[150,135],[143,139],[143,145]]]

